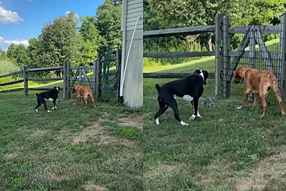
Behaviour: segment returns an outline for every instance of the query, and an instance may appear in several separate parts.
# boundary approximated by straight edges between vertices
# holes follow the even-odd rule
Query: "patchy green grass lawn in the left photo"
[[[72,94],[36,113],[35,92],[0,94],[0,190],[143,189],[142,110]]]

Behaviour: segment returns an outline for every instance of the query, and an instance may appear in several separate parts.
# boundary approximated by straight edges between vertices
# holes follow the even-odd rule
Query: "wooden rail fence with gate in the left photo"
[[[119,69],[120,61],[119,59],[121,51],[117,50],[116,55],[112,58],[110,58],[110,61],[116,62],[116,69]],[[103,90],[102,83],[102,77],[103,77],[103,56],[100,54],[97,55],[97,59],[92,63],[92,66],[75,66],[72,67],[68,61],[64,61],[62,63],[62,66],[56,66],[56,67],[41,67],[41,68],[31,68],[28,69],[27,67],[24,67],[22,71],[19,72],[13,72],[10,74],[1,75],[0,78],[5,78],[8,76],[15,76],[15,75],[21,75],[23,76],[22,79],[16,80],[16,81],[10,81],[7,83],[0,83],[0,86],[6,86],[6,85],[13,85],[17,83],[23,83],[24,82],[24,88],[11,88],[8,90],[0,90],[0,93],[6,93],[6,92],[17,92],[17,91],[24,91],[24,96],[28,97],[28,91],[29,90],[49,90],[51,88],[29,88],[28,87],[28,81],[37,81],[37,82],[47,82],[47,81],[63,81],[62,85],[62,94],[63,99],[70,99],[70,93],[72,92],[72,86],[75,83],[78,83],[78,85],[85,85],[92,89],[94,92],[94,96],[96,100],[99,100],[101,98],[101,92]],[[61,70],[62,71],[62,78],[32,78],[31,73],[34,72],[51,72]],[[87,70],[92,70],[92,75],[87,75]],[[75,72],[73,72],[75,71]],[[85,83],[85,84],[83,84]],[[119,90],[119,86],[118,86]],[[117,94],[118,94],[117,90]]]

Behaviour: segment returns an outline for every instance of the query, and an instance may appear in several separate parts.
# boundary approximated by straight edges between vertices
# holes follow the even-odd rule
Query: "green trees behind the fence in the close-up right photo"
[[[217,13],[228,15],[232,26],[278,25],[286,13],[284,0],[144,0],[144,31],[214,25]],[[234,35],[232,47],[242,36]],[[265,40],[276,38],[267,35]],[[214,49],[214,34],[144,40],[144,51],[198,51]]]

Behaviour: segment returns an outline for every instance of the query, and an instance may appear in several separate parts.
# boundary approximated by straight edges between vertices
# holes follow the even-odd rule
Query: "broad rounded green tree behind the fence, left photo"
[[[39,36],[38,61],[41,66],[62,65],[69,60],[72,65],[80,58],[80,35],[77,32],[76,13],[57,17],[45,24]]]

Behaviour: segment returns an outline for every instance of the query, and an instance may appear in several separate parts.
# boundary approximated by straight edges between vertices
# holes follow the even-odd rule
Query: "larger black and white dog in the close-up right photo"
[[[154,116],[156,124],[160,124],[160,115],[162,115],[162,113],[164,113],[170,106],[173,109],[178,122],[182,125],[188,125],[183,122],[178,115],[178,105],[175,99],[176,96],[192,102],[192,105],[194,106],[194,114],[190,119],[194,120],[196,116],[201,117],[198,111],[198,103],[199,98],[203,94],[203,85],[206,84],[205,81],[207,78],[207,71],[197,69],[190,76],[185,76],[182,79],[165,83],[161,87],[156,84],[155,87],[158,90],[158,102],[160,106],[158,113]]]

